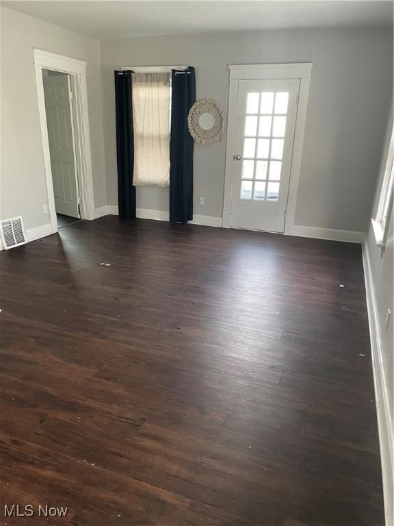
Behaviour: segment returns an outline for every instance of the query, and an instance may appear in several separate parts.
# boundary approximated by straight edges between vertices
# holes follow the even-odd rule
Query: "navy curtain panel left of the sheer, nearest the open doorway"
[[[115,71],[119,217],[135,218],[134,133],[131,71]]]

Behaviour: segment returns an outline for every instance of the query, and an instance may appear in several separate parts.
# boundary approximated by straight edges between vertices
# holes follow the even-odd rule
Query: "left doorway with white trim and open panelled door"
[[[86,62],[34,49],[34,66],[48,195],[44,213],[47,208],[54,233],[95,218]]]

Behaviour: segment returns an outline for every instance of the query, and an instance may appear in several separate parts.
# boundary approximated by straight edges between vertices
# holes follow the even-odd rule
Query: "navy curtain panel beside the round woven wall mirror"
[[[172,70],[170,139],[170,221],[187,223],[193,219],[193,148],[187,129],[187,114],[196,102],[194,68]]]

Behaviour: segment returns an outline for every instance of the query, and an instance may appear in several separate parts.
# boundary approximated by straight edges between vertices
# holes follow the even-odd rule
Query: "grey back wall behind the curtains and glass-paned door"
[[[313,62],[295,223],[367,228],[392,84],[390,29],[129,38],[101,42],[101,59],[109,204],[117,204],[114,69],[195,66],[197,97],[212,97],[227,112],[227,64]],[[225,142],[194,151],[194,212],[222,216]],[[137,206],[168,210],[168,192],[139,190]]]

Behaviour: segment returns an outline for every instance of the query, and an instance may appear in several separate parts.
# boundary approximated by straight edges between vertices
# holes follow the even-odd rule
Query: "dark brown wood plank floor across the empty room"
[[[1,524],[384,524],[359,245],[107,216],[0,265],[0,514],[68,507]]]

